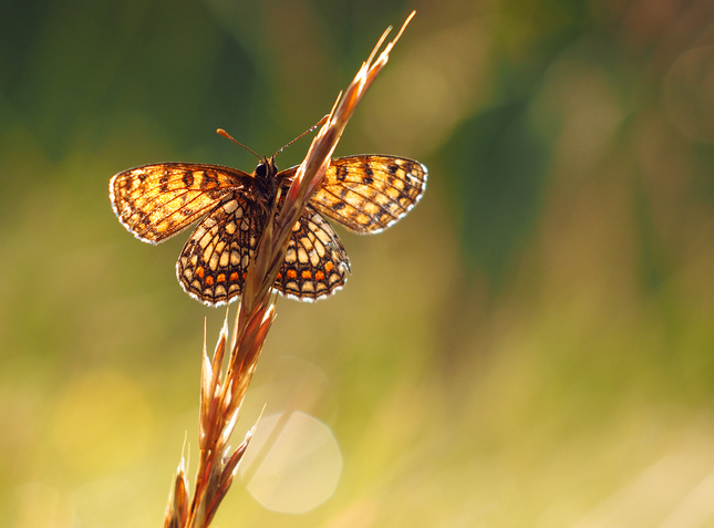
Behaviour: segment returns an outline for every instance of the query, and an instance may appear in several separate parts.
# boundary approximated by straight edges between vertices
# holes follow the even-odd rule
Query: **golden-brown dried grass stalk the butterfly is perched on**
[[[218,337],[213,360],[208,356],[204,338],[199,416],[200,456],[196,487],[189,500],[185,462],[182,457],[166,507],[165,527],[207,527],[232,483],[238,462],[252,436],[252,429],[248,432],[237,449],[231,451],[228,442],[236,426],[240,404],[256,370],[260,351],[275,319],[276,297],[272,284],[284,260],[292,226],[320,186],[330,165],[332,153],[356,105],[387,63],[392,48],[414,14],[414,12],[410,14],[394,40],[376,56],[391,28],[382,34],[372,54],[366,62],[362,63],[362,68],[344,94],[338,96],[325,123],[312,141],[288,190],[282,209],[277,217],[277,210],[269,216],[275,218],[275,221],[266,226],[258,242],[256,257],[248,269],[231,333],[230,354],[225,376],[221,376],[221,366],[228,344],[228,313],[226,313],[226,321]],[[376,60],[374,60],[375,56]],[[277,201],[273,207],[277,207]]]

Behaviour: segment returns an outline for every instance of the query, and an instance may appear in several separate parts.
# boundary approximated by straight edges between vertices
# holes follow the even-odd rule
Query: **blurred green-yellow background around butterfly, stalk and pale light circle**
[[[714,527],[714,4],[4,0],[0,525],[159,526],[195,460],[204,320],[110,177],[252,170],[417,15],[338,155],[430,168],[353,275],[278,301],[235,444],[290,406],[344,467],[303,515],[239,479],[216,526]],[[309,139],[278,157],[301,161]],[[189,475],[193,482],[193,467]]]

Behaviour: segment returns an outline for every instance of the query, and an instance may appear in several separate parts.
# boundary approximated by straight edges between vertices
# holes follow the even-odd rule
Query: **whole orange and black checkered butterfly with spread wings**
[[[122,225],[148,244],[163,242],[199,220],[180,252],[176,276],[194,299],[225,304],[240,297],[272,206],[276,200],[281,205],[280,196],[296,176],[297,166],[279,172],[275,156],[258,156],[252,174],[193,163],[131,168],[110,180],[112,207]],[[341,289],[350,260],[324,217],[358,234],[380,232],[416,205],[426,178],[424,165],[403,157],[332,158],[292,228],[273,289],[300,301]]]

